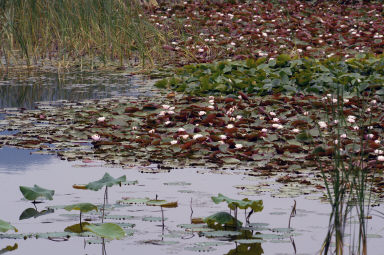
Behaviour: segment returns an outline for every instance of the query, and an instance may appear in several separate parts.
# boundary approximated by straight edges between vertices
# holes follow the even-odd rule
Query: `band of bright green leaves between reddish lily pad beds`
[[[171,78],[156,82],[193,95],[271,93],[324,93],[343,86],[345,91],[374,90],[384,94],[383,57],[360,55],[353,59],[297,59],[282,54],[276,59],[221,61],[184,66]]]

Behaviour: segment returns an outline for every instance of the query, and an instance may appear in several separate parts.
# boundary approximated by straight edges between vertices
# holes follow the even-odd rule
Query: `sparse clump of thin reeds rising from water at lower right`
[[[358,93],[358,95],[363,97],[363,93]],[[331,166],[320,165],[332,210],[328,232],[320,254],[366,255],[368,254],[367,219],[370,215],[371,188],[373,186],[371,180],[375,174],[367,167],[370,157],[367,146],[369,131],[367,127],[370,126],[372,119],[371,116],[367,116],[369,111],[366,109],[369,105],[366,103],[355,112],[357,117],[355,124],[359,129],[351,130],[351,123],[348,123],[348,118],[344,115],[344,91],[338,89],[333,97],[338,99],[337,103],[330,106],[330,116],[326,117],[328,121],[338,121],[335,130],[331,131],[335,137],[335,140],[332,141],[334,144],[333,157]],[[362,101],[369,102],[369,97],[362,98]],[[355,138],[350,138],[353,142],[349,144],[348,148],[342,142],[344,132],[357,134]],[[348,137],[352,136],[348,134]],[[358,227],[352,229],[352,220],[356,218]],[[349,228],[348,225],[350,225]],[[349,251],[346,251],[347,246]]]

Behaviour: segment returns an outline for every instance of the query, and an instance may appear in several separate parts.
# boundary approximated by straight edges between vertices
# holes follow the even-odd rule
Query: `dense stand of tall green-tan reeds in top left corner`
[[[153,64],[163,35],[139,1],[0,0],[3,67],[51,61],[83,68],[127,60]]]

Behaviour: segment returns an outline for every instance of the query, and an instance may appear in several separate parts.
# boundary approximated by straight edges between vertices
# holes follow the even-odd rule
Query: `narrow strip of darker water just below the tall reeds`
[[[119,95],[151,95],[155,89],[142,76],[128,74],[72,72],[67,74],[37,73],[28,77],[0,80],[0,108],[33,109],[35,102],[101,99]]]

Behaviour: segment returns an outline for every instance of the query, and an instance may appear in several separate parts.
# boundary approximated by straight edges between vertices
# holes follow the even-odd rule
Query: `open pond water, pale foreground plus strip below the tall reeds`
[[[39,82],[35,83],[36,80]],[[15,84],[3,82],[0,86],[0,107],[33,108],[36,101],[77,101],[119,95],[151,96],[156,93],[150,89],[151,83],[143,77],[124,74],[73,74],[66,75],[64,80],[55,74],[45,74]],[[39,151],[5,146],[0,148],[0,219],[11,222],[22,235],[13,236],[14,239],[12,236],[0,239],[0,250],[17,243],[18,248],[9,254],[102,254],[102,244],[95,242],[94,237],[49,239],[43,237],[43,233],[61,233],[65,227],[78,222],[78,214],[63,210],[62,205],[80,202],[100,205],[103,201],[102,191],[78,190],[73,189],[72,185],[98,180],[105,172],[113,177],[126,175],[127,180],[132,181],[131,185],[109,190],[106,221],[124,226],[127,237],[107,242],[107,254],[316,254],[328,230],[330,205],[320,199],[322,194],[279,196],[272,191],[289,186],[276,183],[271,177],[247,176],[240,169],[159,170],[156,165],[122,169],[101,161],[68,162],[54,155],[40,154]],[[36,205],[37,211],[50,211],[36,218],[20,220],[22,213],[34,206],[22,199],[19,186],[34,184],[56,191],[53,201]],[[237,188],[256,185],[264,188],[255,192]],[[216,233],[216,236],[212,236],[204,227],[202,231],[193,231],[193,227],[181,225],[191,223],[191,218],[207,217],[219,211],[228,212],[224,203],[212,202],[211,197],[218,193],[236,199],[248,197],[263,200],[264,210],[251,216],[248,232],[232,233],[230,236],[228,233]],[[274,194],[273,197],[271,194]],[[178,207],[164,208],[162,212],[160,207],[118,202],[123,198],[156,197],[177,201]],[[297,214],[291,219],[291,228],[288,228],[295,201]],[[375,207],[375,210],[382,211],[382,206]],[[165,217],[164,228],[162,213]],[[98,223],[100,219],[97,216],[89,213],[84,217]],[[245,223],[243,210],[239,211],[239,219]],[[368,224],[369,254],[381,254],[376,247],[382,246],[383,223],[380,215],[373,212]],[[358,228],[357,220],[351,219],[348,228]],[[38,233],[41,238],[34,236],[23,240],[23,234],[30,233]],[[348,249],[350,244],[346,245]]]

